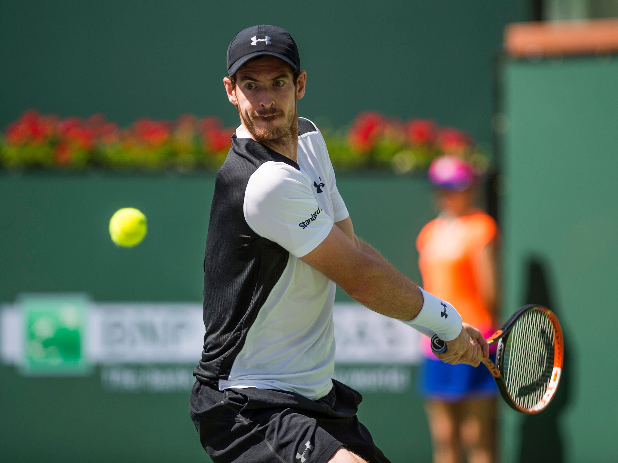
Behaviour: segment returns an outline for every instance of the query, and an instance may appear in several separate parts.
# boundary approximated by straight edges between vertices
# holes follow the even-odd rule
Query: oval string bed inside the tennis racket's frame
[[[515,322],[504,349],[504,380],[515,404],[530,409],[541,401],[554,365],[554,327],[531,309]]]

